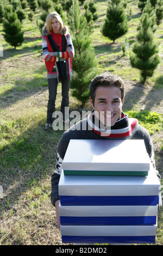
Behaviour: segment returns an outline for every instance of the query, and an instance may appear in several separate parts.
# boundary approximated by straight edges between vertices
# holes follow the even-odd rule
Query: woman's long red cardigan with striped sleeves
[[[54,34],[51,31],[54,41],[60,48],[60,52],[53,52],[51,45],[49,44],[47,36],[49,33],[47,32],[46,26],[42,29],[42,50],[43,50],[43,58],[45,60],[46,68],[47,68],[47,78],[58,78],[58,70],[55,65],[56,62],[67,61],[68,65],[68,74],[69,79],[72,77],[72,58],[74,57],[74,47],[72,44],[71,35],[67,32],[67,28],[64,27],[62,30],[62,34]],[[70,46],[70,51],[62,52],[62,36],[66,38],[66,45]],[[53,56],[49,54],[49,52],[53,52]]]

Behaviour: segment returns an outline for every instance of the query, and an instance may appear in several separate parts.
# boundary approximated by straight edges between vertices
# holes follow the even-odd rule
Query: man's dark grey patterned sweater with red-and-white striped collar
[[[108,135],[106,134],[107,132]],[[56,169],[52,174],[51,180],[51,201],[53,205],[55,204],[55,201],[59,199],[58,183],[62,170],[62,161],[64,159],[70,139],[143,139],[145,141],[147,153],[155,169],[153,143],[151,136],[145,128],[139,125],[137,119],[128,118],[128,116],[122,112],[121,118],[116,121],[116,124],[111,127],[111,130],[103,131],[101,129],[97,129],[97,127],[95,129],[95,123],[93,122],[91,113],[86,119],[79,121],[79,123],[73,125],[70,127],[70,129],[65,131],[59,142],[57,164],[55,166]],[[158,170],[155,169],[155,172],[160,180]],[[162,205],[161,196],[159,205]]]

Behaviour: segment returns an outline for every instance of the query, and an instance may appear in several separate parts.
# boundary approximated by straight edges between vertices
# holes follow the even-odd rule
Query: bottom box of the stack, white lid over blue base
[[[156,225],[61,225],[62,242],[154,243]]]

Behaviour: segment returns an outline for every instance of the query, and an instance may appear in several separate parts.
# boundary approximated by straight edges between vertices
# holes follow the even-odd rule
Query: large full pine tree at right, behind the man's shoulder
[[[141,26],[130,54],[130,63],[133,68],[139,69],[141,80],[145,83],[147,77],[153,75],[160,63],[158,43],[154,39],[149,15],[145,13],[141,19]]]

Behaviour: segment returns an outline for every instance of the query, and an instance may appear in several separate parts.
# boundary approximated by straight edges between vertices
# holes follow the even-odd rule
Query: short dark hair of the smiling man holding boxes
[[[110,87],[115,86],[120,88],[121,90],[121,100],[123,101],[124,98],[124,82],[123,80],[115,75],[110,74],[102,74],[96,76],[90,85],[90,97],[93,101],[93,104],[95,102],[95,95],[96,95],[96,88],[102,86],[102,87]]]

